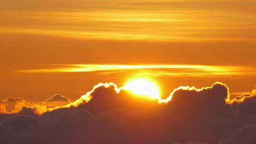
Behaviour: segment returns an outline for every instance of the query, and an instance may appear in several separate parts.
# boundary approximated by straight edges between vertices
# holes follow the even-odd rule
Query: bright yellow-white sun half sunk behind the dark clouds
[[[150,98],[160,98],[158,87],[152,81],[136,79],[128,82],[124,87],[138,95],[148,95]]]

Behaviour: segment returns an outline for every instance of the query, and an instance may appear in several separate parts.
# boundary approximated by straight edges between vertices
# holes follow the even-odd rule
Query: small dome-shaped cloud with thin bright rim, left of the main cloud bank
[[[47,106],[63,106],[70,103],[72,103],[72,101],[61,94],[56,94],[53,97],[45,100],[45,105]]]

